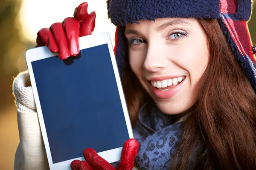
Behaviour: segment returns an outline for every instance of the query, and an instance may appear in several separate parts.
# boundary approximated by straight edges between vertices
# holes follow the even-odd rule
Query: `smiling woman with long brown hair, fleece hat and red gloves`
[[[94,28],[85,9],[81,4],[74,18],[41,29],[38,46],[58,51],[61,59],[78,54],[79,34]],[[251,0],[108,2],[141,170],[256,169],[251,10]],[[15,94],[19,99],[21,92]],[[131,169],[133,156],[121,157],[119,169]],[[92,149],[84,157],[87,162],[72,162],[73,170],[113,169]]]

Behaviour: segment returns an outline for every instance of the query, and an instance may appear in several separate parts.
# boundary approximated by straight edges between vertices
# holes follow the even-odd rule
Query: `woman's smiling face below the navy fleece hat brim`
[[[207,35],[194,18],[159,18],[127,24],[131,69],[166,114],[187,111],[207,67]]]

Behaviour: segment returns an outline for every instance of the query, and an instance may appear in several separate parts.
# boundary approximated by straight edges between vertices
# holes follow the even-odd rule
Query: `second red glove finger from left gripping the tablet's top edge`
[[[58,56],[60,59],[67,59],[70,57],[69,50],[67,47],[67,40],[62,27],[62,23],[54,23],[50,27],[54,36],[56,45],[58,46]]]

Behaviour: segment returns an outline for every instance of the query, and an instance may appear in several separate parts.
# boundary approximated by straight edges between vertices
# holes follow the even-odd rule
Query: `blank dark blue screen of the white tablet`
[[[62,61],[32,62],[52,162],[122,147],[129,139],[108,44]]]

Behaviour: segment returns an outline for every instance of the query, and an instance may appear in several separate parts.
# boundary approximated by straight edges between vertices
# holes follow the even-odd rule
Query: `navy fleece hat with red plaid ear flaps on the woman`
[[[256,91],[256,47],[252,47],[247,21],[252,0],[108,0],[108,15],[116,27],[115,54],[122,76],[128,54],[124,35],[127,23],[165,17],[218,19],[233,53]]]

